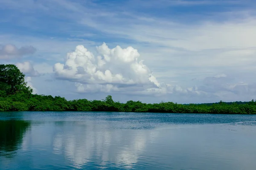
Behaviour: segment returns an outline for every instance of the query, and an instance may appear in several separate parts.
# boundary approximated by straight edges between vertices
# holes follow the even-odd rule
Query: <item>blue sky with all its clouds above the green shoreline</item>
[[[256,99],[255,0],[0,0],[0,63],[68,100]]]

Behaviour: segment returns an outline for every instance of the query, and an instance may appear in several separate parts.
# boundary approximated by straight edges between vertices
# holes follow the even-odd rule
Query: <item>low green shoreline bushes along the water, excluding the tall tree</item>
[[[105,100],[76,99],[67,101],[60,96],[24,94],[22,92],[0,97],[0,111],[119,111],[119,112],[158,112],[158,113],[224,113],[256,114],[255,102],[250,104],[228,105],[219,102],[212,105],[181,105],[173,102],[146,104],[140,101],[114,102],[111,96]]]

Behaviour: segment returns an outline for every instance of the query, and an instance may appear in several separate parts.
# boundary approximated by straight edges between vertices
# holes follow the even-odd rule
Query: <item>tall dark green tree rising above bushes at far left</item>
[[[23,91],[24,93],[32,93],[32,89],[27,86],[24,79],[25,75],[13,64],[0,65],[0,94],[15,94]]]

